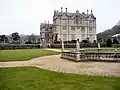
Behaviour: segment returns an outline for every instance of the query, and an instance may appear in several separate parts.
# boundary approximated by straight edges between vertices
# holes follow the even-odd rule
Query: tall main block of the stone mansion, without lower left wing
[[[85,14],[79,13],[77,10],[75,13],[69,13],[62,11],[54,11],[53,16],[53,39],[57,37],[57,40],[61,38],[64,41],[77,40],[79,41],[89,39],[90,42],[96,40],[96,18],[94,17],[92,10],[91,13]]]

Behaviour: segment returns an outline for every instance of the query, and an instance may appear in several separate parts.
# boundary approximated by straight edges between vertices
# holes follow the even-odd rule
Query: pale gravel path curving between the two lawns
[[[31,59],[29,61],[0,62],[1,68],[21,66],[35,66],[38,68],[65,73],[120,77],[120,63],[107,63],[107,62],[76,63],[61,59],[60,55],[39,57]]]

